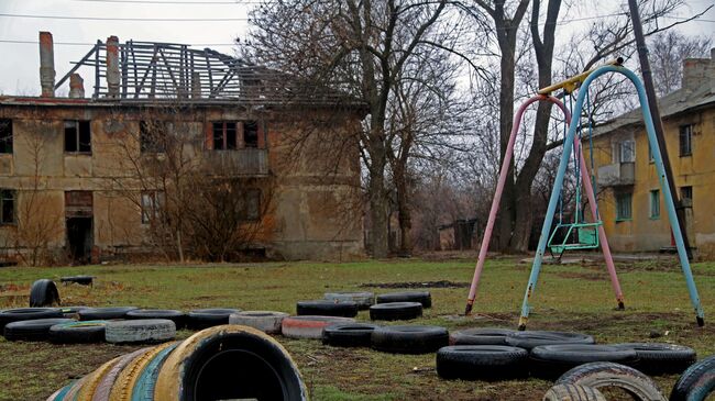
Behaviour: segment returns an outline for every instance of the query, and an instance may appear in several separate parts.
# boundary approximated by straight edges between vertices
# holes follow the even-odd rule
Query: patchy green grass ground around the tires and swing
[[[340,290],[392,291],[371,287],[385,282],[471,281],[473,259],[387,260],[344,264],[271,263],[200,266],[85,266],[0,269],[0,308],[26,307],[38,278],[96,276],[94,288],[61,286],[63,304],[135,305],[191,310],[222,307],[295,311],[298,300],[319,299]],[[431,288],[433,308],[413,323],[449,330],[475,326],[515,327],[530,265],[491,259],[475,302],[476,314],[460,316],[466,288]],[[601,264],[544,266],[532,297],[531,330],[590,333],[600,343],[649,341],[651,332],[715,354],[715,326],[697,327],[682,274],[674,259],[617,266],[626,294],[625,312],[616,304]],[[706,312],[715,311],[715,264],[693,266]],[[369,320],[361,312],[360,320]],[[190,335],[179,332],[179,336]],[[543,380],[444,381],[435,372],[435,355],[392,355],[370,349],[322,346],[319,342],[278,337],[296,359],[314,400],[540,400],[551,386]],[[57,346],[0,339],[0,400],[43,400],[70,380],[110,358],[138,347]],[[664,393],[676,376],[657,378]]]

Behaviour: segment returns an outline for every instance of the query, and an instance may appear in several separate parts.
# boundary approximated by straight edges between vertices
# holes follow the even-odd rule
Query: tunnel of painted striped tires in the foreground
[[[252,327],[220,325],[117,357],[47,401],[306,400],[296,364]]]

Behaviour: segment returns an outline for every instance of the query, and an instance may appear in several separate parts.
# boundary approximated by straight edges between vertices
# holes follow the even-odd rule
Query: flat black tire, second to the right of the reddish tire
[[[373,331],[374,349],[395,354],[428,354],[447,346],[449,332],[439,326],[383,326]]]

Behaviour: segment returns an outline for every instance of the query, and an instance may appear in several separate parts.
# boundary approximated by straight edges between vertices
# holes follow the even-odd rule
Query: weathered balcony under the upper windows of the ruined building
[[[206,151],[209,168],[221,176],[268,175],[268,151],[245,147],[231,151]]]

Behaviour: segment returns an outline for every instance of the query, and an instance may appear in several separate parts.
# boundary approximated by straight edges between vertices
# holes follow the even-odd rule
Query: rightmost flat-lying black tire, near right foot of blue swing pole
[[[639,359],[638,370],[650,376],[680,375],[697,359],[693,348],[676,344],[624,343],[614,347],[634,349]]]

